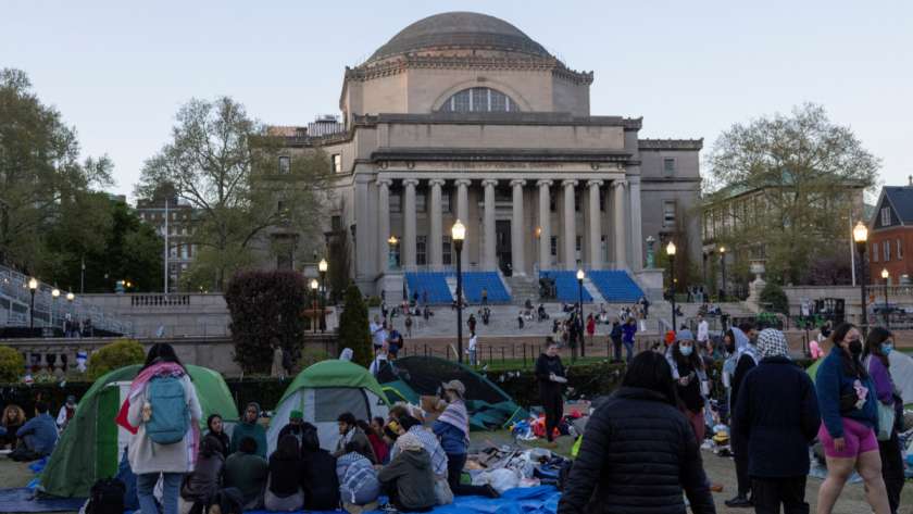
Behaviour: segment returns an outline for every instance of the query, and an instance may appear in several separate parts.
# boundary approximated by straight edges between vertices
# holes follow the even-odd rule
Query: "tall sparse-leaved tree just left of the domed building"
[[[149,198],[171,184],[195,208],[199,259],[191,277],[212,277],[211,285],[223,290],[253,260],[254,247],[268,247],[261,238],[270,227],[299,234],[299,254],[316,249],[320,192],[330,176],[323,152],[299,152],[280,170],[285,141],[227,97],[192,99],[176,122],[172,140],[146,162],[136,195]]]

